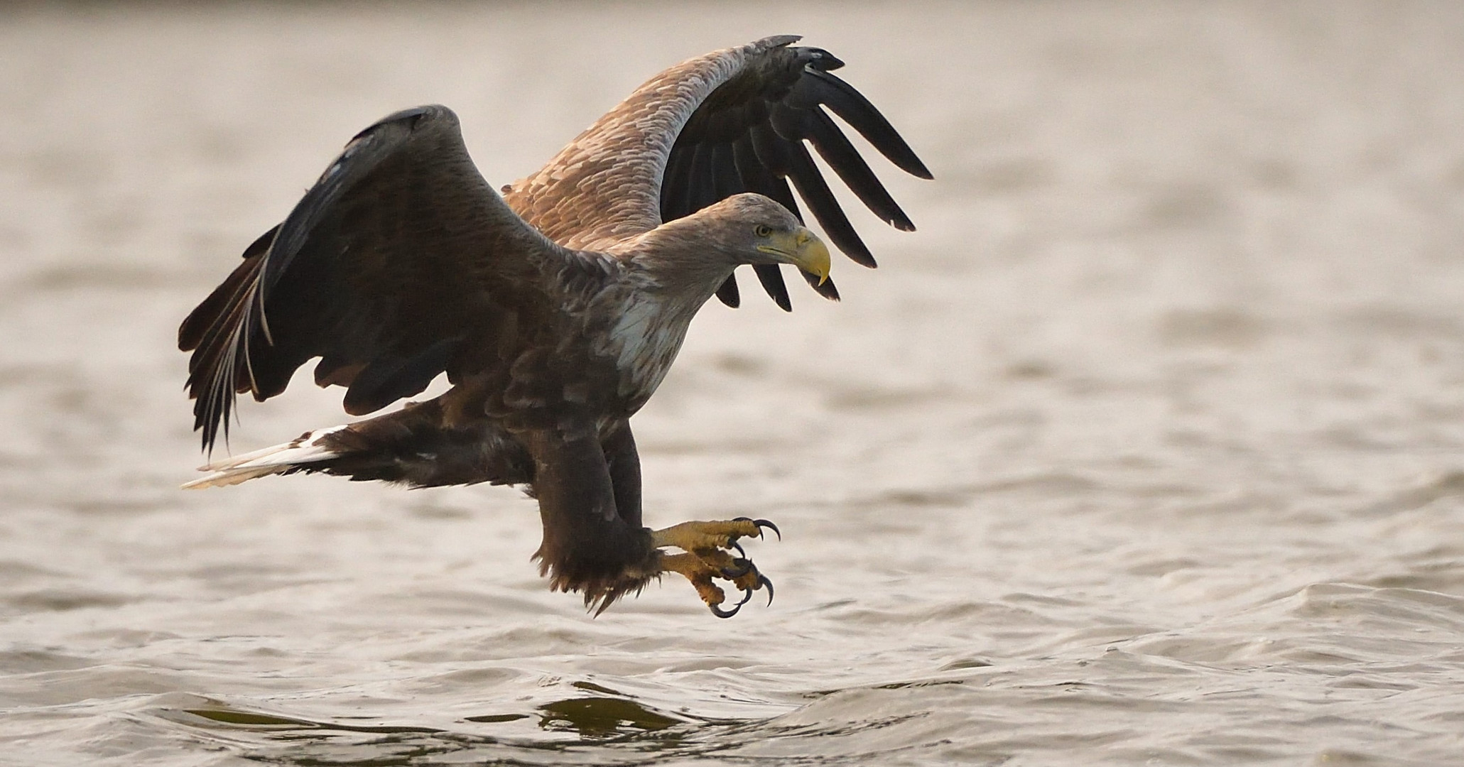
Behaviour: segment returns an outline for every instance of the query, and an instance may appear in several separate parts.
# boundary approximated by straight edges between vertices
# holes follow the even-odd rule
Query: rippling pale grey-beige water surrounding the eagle
[[[637,417],[770,607],[591,619],[504,489],[176,490],[179,319],[357,129],[502,183],[779,32],[938,180]],[[6,7],[0,763],[1461,764],[1458,72],[1452,3]]]

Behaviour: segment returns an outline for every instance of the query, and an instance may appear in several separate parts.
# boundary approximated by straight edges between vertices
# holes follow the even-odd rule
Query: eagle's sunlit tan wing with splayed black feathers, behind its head
[[[792,47],[798,40],[770,37],[662,72],[515,183],[508,203],[561,244],[603,247],[741,192],[766,195],[802,218],[796,189],[829,239],[874,266],[807,145],[875,215],[906,231],[915,225],[829,113],[896,167],[921,179],[931,174],[868,100],[830,75],[843,61],[820,48]],[[789,309],[777,266],[755,269],[773,300]],[[805,278],[837,297],[833,283]],[[717,296],[736,306],[735,278]]]

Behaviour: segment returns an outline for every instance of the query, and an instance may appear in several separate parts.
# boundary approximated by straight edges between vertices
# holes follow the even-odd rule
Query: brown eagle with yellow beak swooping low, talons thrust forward
[[[829,247],[804,227],[793,190],[839,250],[875,265],[810,146],[878,218],[915,228],[833,117],[897,168],[930,171],[832,75],[843,61],[799,40],[770,37],[656,75],[501,190],[447,107],[357,133],[179,328],[195,430],[211,455],[228,439],[236,395],[275,397],[313,359],[315,382],[344,386],[351,416],[444,373],[449,388],[212,463],[184,487],[293,473],[512,484],[539,504],[540,575],[583,594],[594,615],[668,572],[720,618],[758,590],[772,602],[772,581],[738,542],[776,533],[773,523],[643,525],[630,419],[697,310],[712,296],[738,306],[738,266],[752,266],[785,310],[783,265],[839,299]],[[726,606],[717,581],[741,602]]]

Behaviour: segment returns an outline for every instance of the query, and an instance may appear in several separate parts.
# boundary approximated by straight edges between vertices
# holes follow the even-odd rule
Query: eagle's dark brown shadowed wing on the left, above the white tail
[[[605,277],[515,215],[432,105],[359,133],[283,224],[183,321],[195,429],[212,448],[234,395],[284,391],[312,357],[346,410],[379,410],[447,372],[489,366],[526,319]],[[526,316],[527,315],[527,316]]]

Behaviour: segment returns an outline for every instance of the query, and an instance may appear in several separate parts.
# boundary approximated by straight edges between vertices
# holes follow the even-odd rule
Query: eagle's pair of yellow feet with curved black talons
[[[656,547],[675,546],[687,553],[663,553],[660,556],[662,572],[679,572],[697,590],[697,596],[707,605],[712,615],[717,618],[732,618],[742,605],[752,599],[752,591],[767,588],[767,602],[773,603],[773,581],[757,571],[757,565],[747,558],[747,552],[738,545],[739,537],[763,537],[763,528],[772,530],[782,539],[777,525],[767,520],[738,518],[716,523],[681,523],[665,530],[653,530],[651,540]],[[735,550],[739,556],[732,556]],[[731,609],[723,609],[726,593],[713,583],[714,578],[731,581],[742,590],[742,600]]]

